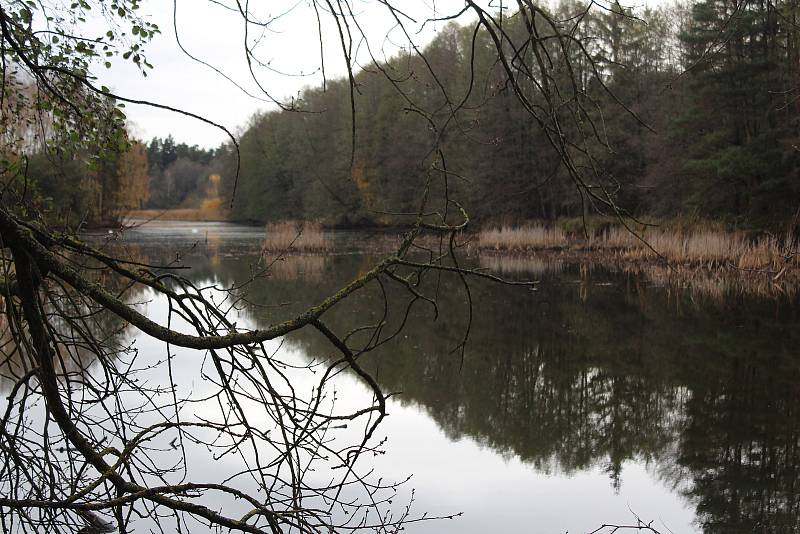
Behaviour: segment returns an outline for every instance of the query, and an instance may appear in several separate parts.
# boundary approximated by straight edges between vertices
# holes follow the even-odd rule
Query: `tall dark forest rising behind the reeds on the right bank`
[[[599,135],[572,131],[565,138],[585,139],[579,164],[620,208],[751,225],[795,213],[796,2],[703,0],[633,13],[618,3],[587,10],[562,0],[552,18],[593,58],[578,54],[576,40],[570,68],[587,111],[575,128]],[[506,21],[509,47],[524,43],[525,21]],[[520,107],[490,39],[484,30],[448,25],[424,50],[430,68],[408,52],[363,68],[355,75],[354,147],[343,80],[303,91],[295,110],[252,117],[241,136],[230,218],[396,222],[396,214],[414,211],[427,173],[442,171],[432,168],[434,146],[447,157],[453,195],[479,222],[591,209]],[[553,46],[542,60],[558,62],[560,50]],[[510,52],[530,53],[524,46]],[[218,164],[230,195],[234,164],[225,159]]]

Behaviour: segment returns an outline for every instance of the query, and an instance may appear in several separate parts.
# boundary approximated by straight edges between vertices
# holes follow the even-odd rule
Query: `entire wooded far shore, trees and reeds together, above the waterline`
[[[798,271],[800,100],[787,99],[785,81],[800,79],[787,52],[800,34],[751,7],[753,17],[725,34],[736,46],[720,49],[709,28],[727,28],[729,17],[712,2],[644,9],[648,24],[618,16],[630,14],[622,7],[587,11],[582,38],[599,70],[575,64],[574,75],[593,102],[585,118],[603,131],[579,151],[585,160],[574,158],[597,169],[587,191],[607,194],[602,202],[576,193],[547,135],[510,105],[497,57],[466,53],[491,50],[491,36],[457,24],[437,32],[424,61],[400,53],[354,72],[355,115],[348,81],[329,80],[302,90],[292,111],[255,113],[236,146],[130,139],[99,168],[32,157],[34,196],[65,226],[230,221],[264,227],[270,254],[305,254],[333,250],[329,230],[402,228],[426,177],[446,172],[448,195],[471,217],[465,242],[475,255],[591,256],[786,279]],[[551,9],[570,20],[575,6]],[[525,34],[519,19],[507,24],[509,36]],[[409,101],[447,108],[443,93],[464,98],[453,116],[407,112]],[[600,115],[617,99],[635,116]],[[446,171],[432,159],[434,137]],[[81,187],[64,186],[72,183]]]

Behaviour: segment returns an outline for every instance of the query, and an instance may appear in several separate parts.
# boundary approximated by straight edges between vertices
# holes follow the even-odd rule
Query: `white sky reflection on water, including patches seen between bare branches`
[[[166,319],[164,302],[154,300],[147,307],[148,316],[163,322]],[[246,317],[238,317],[240,326],[247,326]],[[139,337],[137,346],[143,354],[163,356],[163,344]],[[272,343],[269,349],[277,349]],[[172,348],[174,374],[179,386],[201,397],[212,388],[204,388],[198,365],[202,354],[196,351]],[[281,349],[287,363],[304,365],[306,354],[295,344]],[[297,372],[292,375],[293,386],[298,391],[308,391],[314,377]],[[351,375],[340,375],[335,387],[339,392],[337,409],[346,411],[368,402],[367,389]],[[206,410],[215,410],[212,404],[196,407],[197,413],[209,416]],[[256,415],[253,406],[249,416]],[[375,467],[376,476],[391,480],[411,480],[394,499],[399,513],[407,504],[409,491],[415,490],[413,510],[416,515],[448,515],[463,512],[461,518],[416,523],[406,532],[586,532],[604,523],[633,521],[631,510],[647,520],[655,519],[661,526],[674,532],[693,532],[692,511],[684,500],[665,485],[654,479],[648,466],[641,462],[627,462],[622,472],[619,492],[611,487],[608,473],[602,466],[570,473],[537,472],[531,465],[513,454],[503,454],[481,445],[475,439],[462,437],[451,440],[428,416],[423,407],[414,403],[390,401],[389,417],[380,427],[378,440],[384,436],[388,442],[382,447],[386,454],[374,459],[364,457],[362,464]],[[190,414],[191,415],[191,414]],[[336,430],[344,436],[347,430]],[[207,461],[203,453],[189,457],[189,478],[205,481],[222,478],[241,468],[235,457],[223,462]],[[234,506],[238,506],[234,504]]]

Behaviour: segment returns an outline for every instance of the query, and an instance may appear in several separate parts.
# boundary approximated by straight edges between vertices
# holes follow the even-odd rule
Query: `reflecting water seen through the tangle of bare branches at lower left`
[[[367,400],[366,407],[353,412],[339,408],[335,395],[325,393],[344,363],[358,369],[349,349],[341,350],[345,360],[327,368],[297,365],[293,354],[271,346],[278,333],[291,327],[257,337],[261,333],[250,330],[249,322],[237,327],[235,314],[230,320],[223,316],[228,310],[248,309],[246,299],[269,288],[264,282],[279,280],[264,270],[263,261],[242,262],[229,250],[212,254],[210,247],[198,247],[192,253],[202,258],[199,268],[180,271],[188,275],[183,278],[172,270],[180,261],[170,268],[153,267],[170,264],[172,258],[134,258],[130,247],[119,245],[124,250],[113,253],[128,259],[124,266],[100,253],[93,253],[93,260],[62,254],[87,273],[91,281],[85,283],[59,262],[42,263],[60,269],[69,286],[63,278],[39,276],[38,267],[25,263],[28,256],[15,252],[21,281],[6,284],[9,311],[0,326],[7,327],[12,341],[22,340],[22,347],[7,344],[9,393],[0,405],[7,430],[0,435],[0,507],[19,510],[30,525],[50,530],[56,525],[59,532],[83,532],[85,524],[96,521],[106,531],[111,514],[120,531],[127,531],[125,525],[137,517],[148,528],[153,524],[149,521],[168,517],[164,514],[172,514],[182,531],[213,524],[237,529],[248,518],[274,532],[369,529],[367,514],[377,517],[375,529],[399,529],[409,520],[409,507],[392,515],[398,484],[368,480],[369,473],[362,475],[354,466],[362,452],[375,451],[367,441],[385,413],[378,386],[367,377],[374,386],[370,398],[378,400]],[[50,258],[47,251],[42,254]],[[236,268],[226,271],[233,263]],[[92,285],[88,273],[102,280],[101,289],[92,289],[100,286]],[[308,283],[298,273],[283,278],[280,283],[287,288]],[[146,317],[139,311],[127,313],[130,302],[144,295],[133,287],[147,288],[148,299],[158,295],[149,314],[141,310]],[[111,298],[114,306],[106,304]],[[126,340],[126,323],[104,314],[105,306],[139,330],[155,334]],[[324,323],[314,321],[333,346],[343,346]],[[170,335],[159,337],[162,328]],[[182,329],[198,335],[182,334]],[[31,368],[34,361],[35,374],[26,373],[26,365]],[[202,379],[199,386],[197,377]],[[310,386],[302,386],[304,381]],[[373,417],[378,410],[381,414]],[[331,432],[343,421],[349,423],[348,434]],[[354,432],[363,432],[356,434],[356,445],[350,441]],[[195,476],[205,482],[194,482]],[[124,502],[119,497],[123,490]],[[213,501],[205,490],[214,493]],[[209,502],[227,515],[208,508]],[[136,508],[123,512],[128,504]]]

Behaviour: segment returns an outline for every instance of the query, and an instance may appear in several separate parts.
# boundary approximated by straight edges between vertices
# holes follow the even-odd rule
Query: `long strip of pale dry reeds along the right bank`
[[[666,259],[672,264],[738,268],[777,273],[796,268],[794,236],[748,239],[740,232],[697,229],[686,232],[651,228],[639,236],[612,227],[585,240],[570,239],[559,228],[524,226],[484,230],[478,247],[484,251],[528,252],[575,249],[611,253],[626,261]]]

